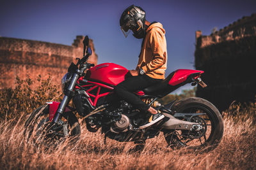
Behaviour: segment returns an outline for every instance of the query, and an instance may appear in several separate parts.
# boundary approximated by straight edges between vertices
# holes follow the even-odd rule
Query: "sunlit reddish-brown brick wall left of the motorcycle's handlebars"
[[[60,85],[71,62],[83,56],[83,36],[77,36],[72,46],[31,41],[28,39],[0,37],[0,89],[13,87],[16,76],[32,79],[52,76],[52,83]],[[92,39],[89,41],[92,56],[88,62],[97,64],[97,54]]]

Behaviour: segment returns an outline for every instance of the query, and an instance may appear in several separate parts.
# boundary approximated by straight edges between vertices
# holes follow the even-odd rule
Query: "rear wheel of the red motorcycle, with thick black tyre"
[[[176,113],[184,113],[180,120],[196,122],[202,125],[199,132],[191,131],[168,131],[164,132],[164,138],[170,146],[186,146],[190,148],[215,148],[223,136],[223,120],[220,111],[209,101],[199,97],[181,99],[169,108]],[[191,113],[195,114],[191,117]]]

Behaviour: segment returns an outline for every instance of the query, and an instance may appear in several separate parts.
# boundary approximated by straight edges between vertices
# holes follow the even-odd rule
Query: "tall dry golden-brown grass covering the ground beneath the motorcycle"
[[[252,114],[251,114],[252,115]],[[256,129],[253,116],[234,123],[225,117],[220,145],[202,153],[166,147],[163,134],[147,140],[141,154],[129,153],[133,143],[118,143],[81,127],[79,142],[54,151],[36,148],[23,138],[24,117],[0,124],[1,169],[255,169]],[[14,123],[15,122],[15,123]]]

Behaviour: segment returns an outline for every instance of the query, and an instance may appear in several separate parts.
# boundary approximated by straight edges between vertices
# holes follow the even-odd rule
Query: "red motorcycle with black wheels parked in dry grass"
[[[188,97],[169,104],[157,99],[166,96],[182,85],[192,83],[205,87],[200,79],[204,71],[178,69],[163,81],[134,92],[142,101],[163,113],[164,118],[149,127],[143,126],[150,113],[142,113],[131,104],[118,99],[113,89],[125,80],[128,70],[113,63],[94,66],[87,62],[92,50],[88,36],[84,38],[84,54],[77,64],[70,64],[63,76],[62,90],[65,96],[61,103],[51,102],[36,109],[26,121],[26,135],[36,141],[53,144],[67,138],[79,139],[81,132],[76,117],[78,113],[90,132],[101,132],[106,138],[120,142],[134,141],[145,144],[146,139],[164,133],[170,146],[214,148],[223,136],[223,120],[218,109],[209,101]],[[84,73],[86,71],[86,73]],[[73,107],[68,106],[72,99]]]

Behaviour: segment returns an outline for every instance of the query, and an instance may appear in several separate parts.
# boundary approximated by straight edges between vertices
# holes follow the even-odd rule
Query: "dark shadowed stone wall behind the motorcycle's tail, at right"
[[[232,101],[254,101],[256,94],[256,13],[202,36],[196,31],[195,67],[205,71],[207,88],[198,88],[220,110]]]

